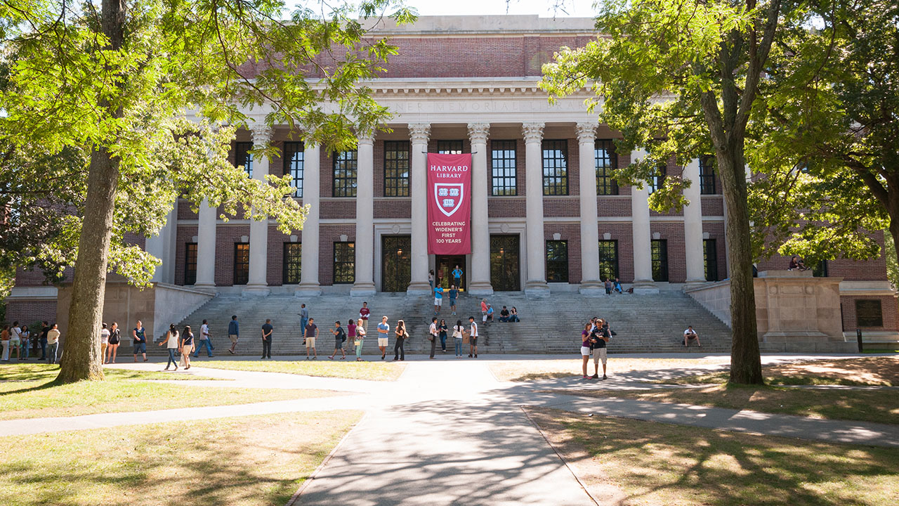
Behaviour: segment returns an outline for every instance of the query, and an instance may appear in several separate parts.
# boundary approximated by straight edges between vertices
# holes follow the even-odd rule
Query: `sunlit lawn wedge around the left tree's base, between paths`
[[[174,375],[163,376],[167,379]],[[190,382],[183,383],[135,381],[130,379],[130,375],[119,377],[115,374],[106,375],[105,381],[75,384],[58,384],[53,378],[4,382],[0,383],[0,420],[283,401],[337,394],[322,390],[194,386]]]

